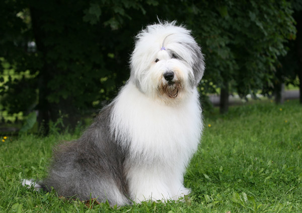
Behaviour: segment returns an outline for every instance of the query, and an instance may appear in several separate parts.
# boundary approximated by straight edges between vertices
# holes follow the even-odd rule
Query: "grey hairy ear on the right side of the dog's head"
[[[201,48],[198,46],[197,43],[191,45],[193,50],[193,58],[194,62],[192,65],[193,68],[193,74],[194,74],[194,83],[195,86],[197,86],[203,76],[203,72],[205,69],[205,63],[204,63],[204,56],[201,53]]]

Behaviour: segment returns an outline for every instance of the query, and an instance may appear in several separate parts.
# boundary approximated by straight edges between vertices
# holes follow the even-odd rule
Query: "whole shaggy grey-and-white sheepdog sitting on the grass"
[[[119,206],[190,193],[183,175],[202,133],[204,68],[190,30],[147,26],[136,36],[130,79],[78,140],[55,149],[42,188]]]

